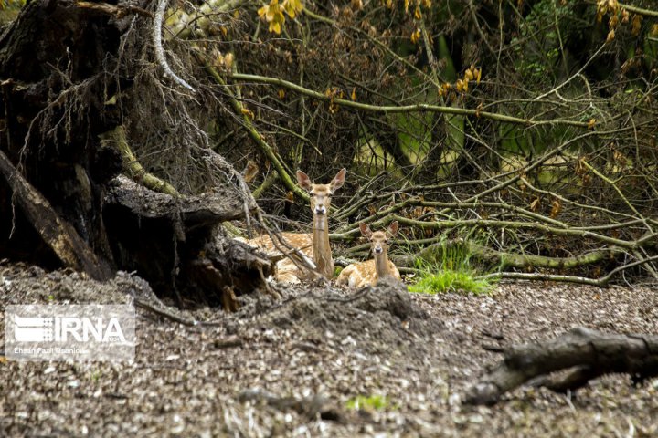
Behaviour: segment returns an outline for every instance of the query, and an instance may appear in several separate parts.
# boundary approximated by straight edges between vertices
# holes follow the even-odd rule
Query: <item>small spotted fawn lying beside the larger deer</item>
[[[370,249],[375,258],[345,267],[338,276],[337,283],[348,287],[364,287],[375,285],[379,278],[385,276],[400,280],[398,268],[388,260],[388,238],[398,235],[398,221],[388,225],[386,231],[373,233],[366,224],[359,224],[359,229],[370,241]]]

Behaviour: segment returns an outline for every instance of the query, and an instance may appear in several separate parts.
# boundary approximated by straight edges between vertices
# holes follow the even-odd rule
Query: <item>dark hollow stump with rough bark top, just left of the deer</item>
[[[105,201],[117,264],[137,271],[160,297],[235,310],[236,295],[266,289],[270,262],[218,229],[244,216],[236,193],[218,188],[174,198],[119,177]]]

